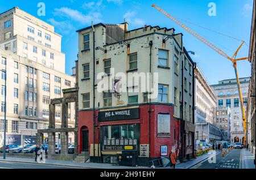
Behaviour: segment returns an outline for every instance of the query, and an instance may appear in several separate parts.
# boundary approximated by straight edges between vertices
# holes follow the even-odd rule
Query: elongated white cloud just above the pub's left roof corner
[[[53,15],[69,18],[70,20],[79,22],[82,25],[88,24],[92,22],[92,20],[95,23],[98,23],[101,21],[101,16],[102,16],[100,12],[93,12],[93,11],[85,15],[85,14],[82,14],[82,12],[80,11],[73,10],[72,8],[68,8],[68,7],[55,8]]]

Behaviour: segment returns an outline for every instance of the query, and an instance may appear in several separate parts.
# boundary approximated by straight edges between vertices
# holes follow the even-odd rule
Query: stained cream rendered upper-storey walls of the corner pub
[[[96,65],[96,77],[97,74],[100,72],[104,72],[104,59],[111,58],[111,65],[113,68],[115,68],[115,73],[117,72],[125,72],[128,69],[128,59],[127,59],[127,46],[126,45],[120,45],[118,43],[111,44],[111,45],[105,45],[106,42],[106,30],[105,27],[99,25],[95,27],[95,47],[100,46],[103,49],[107,50],[106,56],[104,52],[101,50],[96,50],[96,59],[95,61],[98,61],[98,64]],[[152,32],[156,33],[152,33]],[[159,84],[167,84],[168,85],[168,103],[174,104],[174,87],[177,88],[177,106],[175,107],[175,117],[180,116],[180,103],[179,101],[179,92],[181,91],[181,59],[184,59],[184,54],[179,54],[179,72],[178,76],[174,73],[174,46],[179,50],[179,52],[183,51],[182,45],[181,45],[181,34],[175,35],[174,37],[177,39],[177,42],[170,38],[166,42],[166,47],[163,47],[163,39],[166,37],[164,34],[158,34],[163,33],[163,30],[158,30],[156,28],[153,29],[144,29],[144,31],[138,30],[138,31],[131,31],[127,32],[127,37],[132,37],[129,40],[126,40],[128,44],[130,44],[130,54],[136,53],[138,55],[138,73],[140,72],[149,72],[150,71],[150,46],[148,43],[150,41],[153,41],[152,45],[152,72],[158,72],[159,75]],[[83,35],[88,34],[90,36],[90,50],[87,50],[85,52],[81,52],[83,50]],[[172,31],[167,32],[172,34]],[[132,35],[131,35],[132,34]],[[141,37],[140,37],[141,36]],[[179,48],[179,45],[182,49]],[[158,67],[158,49],[166,49],[168,50],[168,67],[170,69],[164,69]],[[188,61],[189,62],[189,61]],[[90,65],[90,79],[89,80],[82,80],[83,74],[82,74],[82,65],[89,63]],[[189,74],[189,70],[184,69],[184,77],[187,78],[187,91],[188,91],[188,85],[189,82],[192,86],[192,74]],[[96,80],[97,84],[100,80]],[[85,29],[84,31],[79,32],[79,109],[82,109],[82,94],[90,92],[90,108],[93,108],[93,31],[92,28]],[[128,87],[128,85],[127,85]],[[127,93],[121,93],[120,100],[123,101],[123,105],[127,105]],[[96,89],[96,108],[103,108],[103,97],[102,93],[98,93]],[[192,108],[192,92],[191,92],[191,98],[189,98],[189,92],[184,91],[184,102],[187,102],[187,109],[185,109],[186,113],[189,114],[189,105]],[[100,103],[100,106],[98,106],[98,102]],[[158,102],[157,99],[152,99],[151,102]],[[138,93],[138,103],[143,103],[143,93]],[[117,98],[114,96],[112,97],[112,106],[120,106],[120,104],[117,104]],[[192,114],[192,109],[191,109]],[[192,122],[192,115],[187,115],[187,121]],[[185,116],[184,116],[185,119]]]

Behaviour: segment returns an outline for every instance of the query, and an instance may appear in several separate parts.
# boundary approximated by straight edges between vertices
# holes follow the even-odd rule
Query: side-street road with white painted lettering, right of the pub
[[[218,153],[209,160],[207,159],[192,166],[191,169],[241,169],[241,163],[242,149],[233,149],[229,153],[225,153],[224,157],[222,157],[222,153]]]

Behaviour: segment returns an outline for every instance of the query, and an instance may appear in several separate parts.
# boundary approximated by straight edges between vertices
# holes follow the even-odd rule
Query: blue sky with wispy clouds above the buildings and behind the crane
[[[38,3],[46,5],[46,16],[38,16]],[[208,4],[216,4],[216,16],[209,16]],[[240,46],[241,42],[207,31],[207,27],[214,31],[245,40],[238,57],[247,57],[250,42],[251,13],[253,0],[9,0],[0,2],[0,12],[18,6],[24,11],[55,26],[55,31],[63,36],[62,51],[66,54],[66,72],[71,74],[71,68],[77,58],[77,29],[94,23],[122,23],[124,19],[129,23],[129,29],[144,25],[159,25],[160,27],[175,28],[176,33],[183,33],[184,46],[192,50],[193,61],[197,62],[200,70],[210,84],[218,80],[235,78],[232,63],[208,48],[177,24],[151,7],[152,3],[163,8],[176,18],[184,22],[206,37],[229,56]],[[196,25],[195,25],[196,24]],[[250,63],[238,62],[240,77],[250,76]]]

